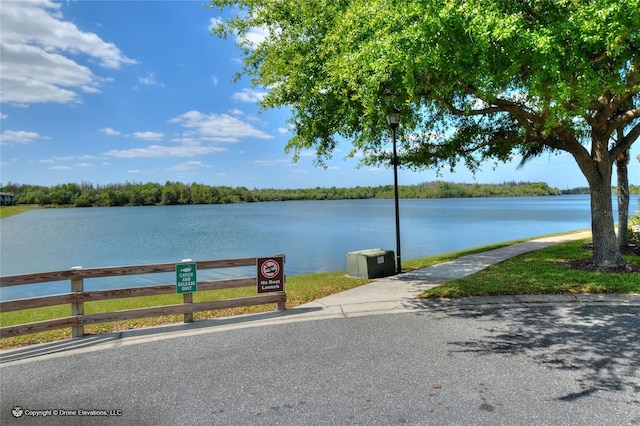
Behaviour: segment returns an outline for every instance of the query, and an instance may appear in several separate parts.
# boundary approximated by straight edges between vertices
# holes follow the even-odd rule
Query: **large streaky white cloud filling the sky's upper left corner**
[[[99,93],[102,80],[79,63],[81,55],[110,69],[136,63],[113,43],[65,21],[61,8],[50,0],[2,3],[3,102],[67,103],[77,102],[80,92]]]

